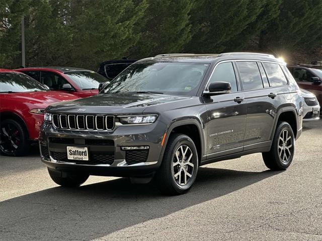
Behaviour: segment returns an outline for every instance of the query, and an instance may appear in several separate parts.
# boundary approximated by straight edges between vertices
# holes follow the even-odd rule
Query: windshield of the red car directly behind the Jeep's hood
[[[97,89],[101,82],[108,81],[107,78],[94,71],[73,71],[66,74],[81,89]]]

